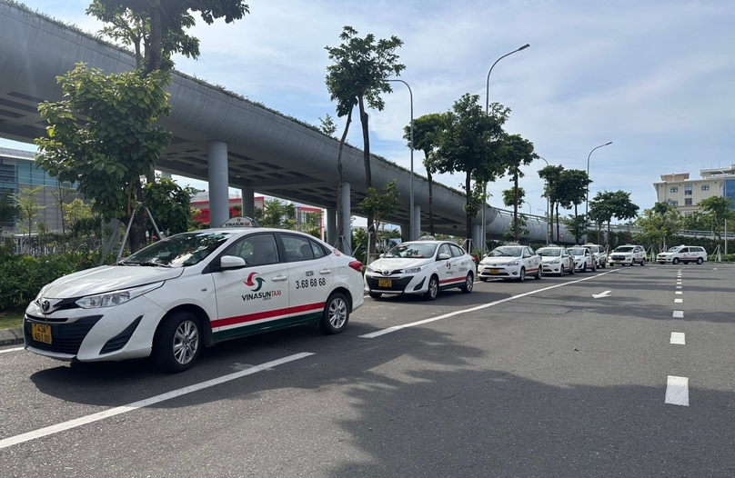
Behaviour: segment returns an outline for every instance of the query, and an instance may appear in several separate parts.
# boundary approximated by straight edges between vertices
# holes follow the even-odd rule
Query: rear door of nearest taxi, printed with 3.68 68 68
[[[288,267],[288,308],[293,324],[316,321],[338,274],[327,251],[301,234],[279,234]]]

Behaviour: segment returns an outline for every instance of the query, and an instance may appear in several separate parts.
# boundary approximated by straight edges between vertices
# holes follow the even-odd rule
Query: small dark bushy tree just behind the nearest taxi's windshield
[[[185,233],[191,228],[193,220],[189,203],[194,194],[196,188],[181,187],[176,181],[165,177],[158,178],[155,183],[146,184],[143,190],[144,204],[162,234]],[[147,225],[148,234],[155,235],[153,224]]]

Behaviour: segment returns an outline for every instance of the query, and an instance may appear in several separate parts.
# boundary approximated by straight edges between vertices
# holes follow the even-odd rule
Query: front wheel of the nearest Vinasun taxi
[[[199,319],[190,312],[176,312],[158,325],[153,339],[153,360],[165,372],[184,372],[196,362],[201,347]]]

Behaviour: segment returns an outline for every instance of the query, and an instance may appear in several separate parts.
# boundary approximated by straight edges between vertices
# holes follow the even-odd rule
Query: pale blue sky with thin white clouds
[[[25,5],[89,32],[88,0],[25,0]],[[198,59],[176,57],[176,69],[310,124],[336,118],[325,85],[325,47],[341,43],[342,27],[360,36],[398,36],[413,92],[414,118],[448,111],[461,95],[511,109],[506,131],[534,144],[549,164],[587,170],[589,198],[630,193],[640,211],[656,202],[660,174],[735,164],[735,3],[731,0],[250,0],[233,24],[201,18],[190,30]],[[370,111],[370,149],[410,168],[403,127],[410,122],[408,88],[392,84],[385,109]],[[358,124],[347,141],[358,147]],[[596,146],[608,146],[590,152]],[[0,146],[33,150],[0,139]],[[539,159],[523,169],[521,211],[544,214]],[[423,153],[414,171],[426,175]],[[459,189],[463,174],[435,176]],[[206,189],[206,183],[186,181]],[[488,203],[502,206],[508,177],[488,185]],[[582,204],[581,208],[584,208]],[[580,213],[583,211],[580,210]]]

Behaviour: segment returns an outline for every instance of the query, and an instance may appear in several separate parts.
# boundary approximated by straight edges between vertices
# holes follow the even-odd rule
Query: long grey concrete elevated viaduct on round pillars
[[[133,55],[15,5],[0,3],[0,136],[31,143],[45,134],[37,113],[42,101],[58,101],[55,78],[78,62],[116,73],[135,67]],[[212,224],[228,217],[228,187],[242,190],[244,214],[254,214],[253,195],[263,194],[327,209],[327,241],[337,241],[337,201],[350,214],[364,215],[354,204],[365,197],[362,151],[346,145],[344,189],[337,198],[338,141],[315,128],[288,119],[238,95],[183,75],[169,86],[173,113],[162,124],[174,134],[157,169],[209,183]],[[386,218],[399,224],[404,238],[417,238],[428,228],[428,181],[414,174],[414,211],[409,211],[410,172],[373,158],[373,184],[382,188],[396,179],[398,211]],[[465,234],[465,196],[441,184],[433,191],[435,228],[442,234]],[[414,214],[415,231],[408,231]],[[481,244],[480,215],[473,221],[474,244]],[[488,206],[487,234],[501,238],[509,215]],[[546,240],[545,219],[529,219],[532,240]],[[348,237],[347,237],[348,240]]]

